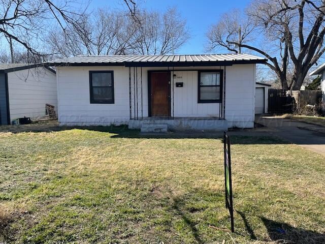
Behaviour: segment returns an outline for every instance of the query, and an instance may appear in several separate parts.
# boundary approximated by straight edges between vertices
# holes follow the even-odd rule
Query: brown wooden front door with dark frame
[[[151,116],[170,116],[170,72],[150,72]]]

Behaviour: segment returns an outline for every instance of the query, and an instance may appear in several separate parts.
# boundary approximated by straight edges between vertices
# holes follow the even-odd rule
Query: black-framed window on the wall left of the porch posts
[[[89,71],[90,103],[114,103],[113,71]]]

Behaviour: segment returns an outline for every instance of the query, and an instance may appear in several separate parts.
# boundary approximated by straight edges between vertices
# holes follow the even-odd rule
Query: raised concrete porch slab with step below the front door
[[[144,117],[130,119],[128,128],[141,132],[225,131],[228,121],[219,117]]]

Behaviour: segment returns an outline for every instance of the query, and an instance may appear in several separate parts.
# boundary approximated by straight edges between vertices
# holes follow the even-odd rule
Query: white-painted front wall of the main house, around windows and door
[[[174,86],[171,87],[171,113],[175,117],[219,116],[218,103],[198,103],[198,72],[223,67],[177,67]],[[177,71],[193,70],[193,71]],[[114,104],[90,104],[89,71],[114,71]],[[142,68],[143,116],[148,116],[148,70],[168,68]],[[171,69],[170,69],[171,70]],[[133,75],[133,69],[132,69]],[[129,120],[129,80],[125,67],[58,67],[58,119],[60,125],[120,125]],[[140,68],[138,80],[140,81]],[[171,72],[173,84],[173,72]],[[183,87],[176,87],[183,82]],[[254,123],[255,65],[226,67],[226,119],[230,127],[252,128]],[[133,85],[133,77],[132,77]],[[174,89],[173,89],[174,88]],[[138,114],[141,117],[141,85],[138,83]],[[174,97],[174,101],[173,101]],[[134,104],[134,88],[132,88]],[[174,111],[173,111],[174,104]],[[134,116],[134,107],[132,107]]]

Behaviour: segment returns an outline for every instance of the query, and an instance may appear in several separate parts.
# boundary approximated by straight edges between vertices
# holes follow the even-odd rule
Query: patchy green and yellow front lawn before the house
[[[0,242],[325,242],[325,158],[312,151],[231,138],[231,233],[210,227],[230,228],[221,139],[56,129],[0,132]]]

